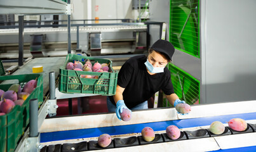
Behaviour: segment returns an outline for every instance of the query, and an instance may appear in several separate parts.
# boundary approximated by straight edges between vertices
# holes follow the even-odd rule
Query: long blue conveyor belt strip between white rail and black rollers
[[[50,141],[61,141],[67,139],[80,139],[88,137],[98,137],[101,134],[121,135],[141,132],[144,127],[151,127],[154,131],[166,130],[169,125],[176,125],[179,129],[200,127],[210,125],[214,121],[220,121],[226,124],[232,118],[242,118],[244,120],[256,120],[256,112],[254,113],[239,113],[233,115],[220,115],[214,117],[189,118],[182,120],[169,120],[163,122],[150,122],[145,124],[118,125],[110,127],[98,127],[90,129],[64,130],[57,132],[41,133],[41,143]]]

